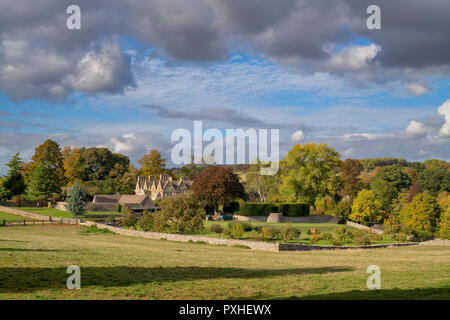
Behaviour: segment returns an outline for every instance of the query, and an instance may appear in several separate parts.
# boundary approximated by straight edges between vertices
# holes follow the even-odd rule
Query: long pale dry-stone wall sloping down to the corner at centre
[[[237,239],[225,239],[225,238],[213,238],[206,236],[196,236],[196,235],[182,235],[182,234],[171,234],[171,233],[158,233],[158,232],[145,232],[145,231],[137,231],[131,229],[123,229],[119,227],[108,226],[102,223],[97,223],[93,221],[86,221],[87,226],[96,226],[99,229],[108,229],[115,234],[121,234],[132,237],[142,237],[149,239],[166,239],[172,241],[179,242],[206,242],[209,244],[216,245],[226,245],[226,246],[246,246],[250,249],[254,250],[263,250],[263,251],[275,251],[278,252],[278,243],[274,242],[263,242],[263,241],[247,241],[247,240],[237,240]]]

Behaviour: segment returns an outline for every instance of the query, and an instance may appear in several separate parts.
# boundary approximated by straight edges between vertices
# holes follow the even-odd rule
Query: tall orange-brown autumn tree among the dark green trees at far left
[[[34,172],[37,167],[44,168],[39,172],[45,173],[46,179],[51,181],[52,192],[59,193],[60,188],[66,184],[63,155],[59,145],[53,140],[46,140],[36,148],[31,160],[30,172]]]

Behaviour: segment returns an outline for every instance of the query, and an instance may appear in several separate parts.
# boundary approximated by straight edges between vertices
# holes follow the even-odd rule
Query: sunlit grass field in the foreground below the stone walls
[[[0,228],[1,299],[449,299],[450,247],[263,252],[91,233]],[[381,268],[381,290],[366,288]],[[81,268],[81,290],[65,286]]]

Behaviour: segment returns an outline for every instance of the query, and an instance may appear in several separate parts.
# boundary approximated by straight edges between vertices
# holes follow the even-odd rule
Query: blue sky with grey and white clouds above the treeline
[[[81,30],[66,9],[81,8]],[[381,8],[369,30],[366,9]],[[0,173],[45,139],[136,160],[171,133],[280,129],[283,155],[450,160],[448,0],[0,0]]]

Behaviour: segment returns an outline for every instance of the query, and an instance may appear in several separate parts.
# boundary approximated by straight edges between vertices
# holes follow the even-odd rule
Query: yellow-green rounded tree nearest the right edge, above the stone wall
[[[427,193],[421,193],[403,208],[400,220],[412,230],[434,233],[440,213],[441,208],[436,199]]]

